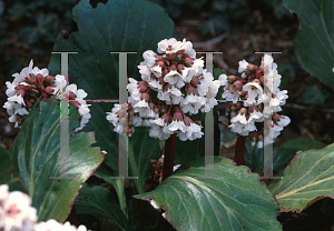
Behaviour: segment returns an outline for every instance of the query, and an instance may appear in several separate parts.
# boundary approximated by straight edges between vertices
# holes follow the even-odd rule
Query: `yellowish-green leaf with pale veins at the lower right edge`
[[[281,211],[306,209],[321,198],[334,198],[334,144],[321,150],[299,152],[268,189],[275,194]]]

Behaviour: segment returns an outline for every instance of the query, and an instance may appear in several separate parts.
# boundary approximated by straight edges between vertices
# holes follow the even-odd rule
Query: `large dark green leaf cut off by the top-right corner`
[[[284,4],[302,20],[302,29],[295,39],[298,62],[334,89],[334,1],[284,0]]]

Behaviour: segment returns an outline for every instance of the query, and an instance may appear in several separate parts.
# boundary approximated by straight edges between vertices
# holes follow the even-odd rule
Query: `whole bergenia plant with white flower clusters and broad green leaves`
[[[171,19],[150,1],[92,8],[81,0],[73,16],[78,31],[68,39],[60,32],[48,69],[30,61],[6,82],[3,108],[19,133],[9,153],[0,148],[0,231],[278,231],[279,212],[334,198],[333,144],[294,151],[292,160],[281,150],[263,153],[291,123],[281,114],[288,96],[272,56],[258,67],[240,60],[238,77],[212,73],[190,41],[174,38]],[[69,77],[57,74],[59,53],[70,60]],[[307,68],[317,74],[312,62]],[[118,80],[127,88],[118,89]],[[127,102],[117,103],[125,90]],[[60,120],[63,100],[68,128]],[[229,102],[225,121],[215,108],[222,101]],[[218,123],[237,135],[235,161],[205,151]],[[116,132],[126,138],[126,157]],[[266,184],[249,155],[277,170]]]

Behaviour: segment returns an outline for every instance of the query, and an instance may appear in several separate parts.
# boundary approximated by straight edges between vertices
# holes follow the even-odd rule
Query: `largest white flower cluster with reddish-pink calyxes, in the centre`
[[[115,104],[107,112],[118,133],[131,135],[134,127],[150,127],[149,135],[166,140],[176,133],[180,140],[194,140],[203,135],[199,122],[185,113],[207,112],[217,104],[215,99],[222,80],[203,69],[204,61],[196,59],[193,44],[185,39],[165,39],[158,43],[158,56],[145,51],[138,66],[143,81],[129,79],[130,97],[124,106]],[[151,99],[156,91],[160,101]]]

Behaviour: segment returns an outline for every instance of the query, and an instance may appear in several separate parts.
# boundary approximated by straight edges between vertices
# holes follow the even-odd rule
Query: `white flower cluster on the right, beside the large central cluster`
[[[287,91],[279,90],[282,77],[278,74],[277,64],[268,54],[264,56],[258,69],[245,60],[239,61],[238,72],[242,78],[222,76],[225,87],[222,97],[233,101],[226,110],[226,116],[232,118],[228,128],[240,135],[248,135],[249,132],[257,131],[255,122],[263,122],[264,118],[272,116],[273,124],[269,127],[273,132],[267,132],[268,135],[263,138],[261,130],[253,137],[253,144],[258,141],[257,147],[263,148],[263,139],[265,145],[274,142],[273,139],[279,135],[283,127],[289,123],[288,117],[277,114],[288,98]]]

